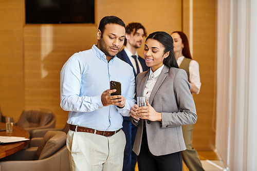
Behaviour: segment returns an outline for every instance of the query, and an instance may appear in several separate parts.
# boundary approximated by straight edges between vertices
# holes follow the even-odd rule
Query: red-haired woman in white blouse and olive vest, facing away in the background
[[[187,35],[181,31],[174,31],[171,36],[174,40],[174,54],[177,64],[180,69],[184,69],[187,72],[188,81],[192,86],[191,93],[198,94],[201,87],[199,64],[191,56]],[[192,147],[193,124],[183,125],[182,130],[187,146],[187,149],[181,152],[183,161],[189,170],[204,170],[197,151]]]

